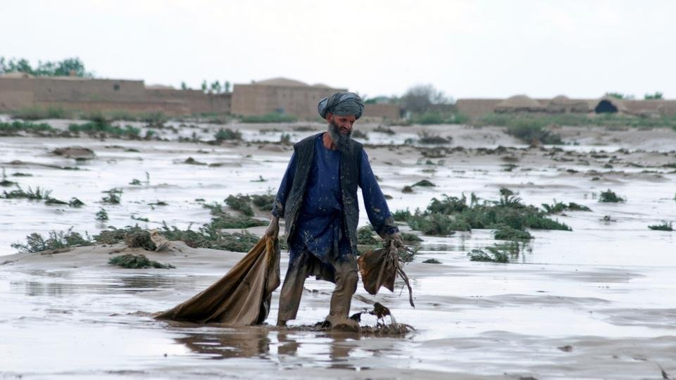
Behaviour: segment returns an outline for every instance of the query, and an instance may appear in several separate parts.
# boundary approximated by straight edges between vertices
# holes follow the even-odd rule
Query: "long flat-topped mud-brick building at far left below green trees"
[[[142,80],[0,75],[0,111],[58,106],[70,110],[127,112],[228,113],[230,94],[146,87]]]

